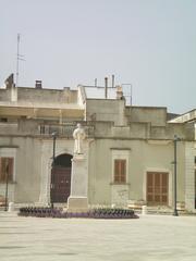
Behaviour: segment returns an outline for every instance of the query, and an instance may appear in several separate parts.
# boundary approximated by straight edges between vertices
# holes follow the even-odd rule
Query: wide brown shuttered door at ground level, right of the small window
[[[147,204],[168,206],[169,174],[147,172]]]

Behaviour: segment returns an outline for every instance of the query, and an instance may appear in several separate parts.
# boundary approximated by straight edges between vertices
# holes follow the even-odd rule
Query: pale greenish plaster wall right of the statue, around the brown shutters
[[[146,200],[146,173],[169,173],[169,204],[173,202],[173,142],[145,140],[97,139],[89,152],[89,201],[91,204],[112,203],[112,150],[126,149],[128,156],[128,199]],[[184,144],[177,148],[177,201],[184,201]]]

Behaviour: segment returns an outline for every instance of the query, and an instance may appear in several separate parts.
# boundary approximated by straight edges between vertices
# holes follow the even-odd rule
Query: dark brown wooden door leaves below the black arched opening
[[[71,167],[54,166],[51,172],[52,202],[66,202],[71,189]]]

